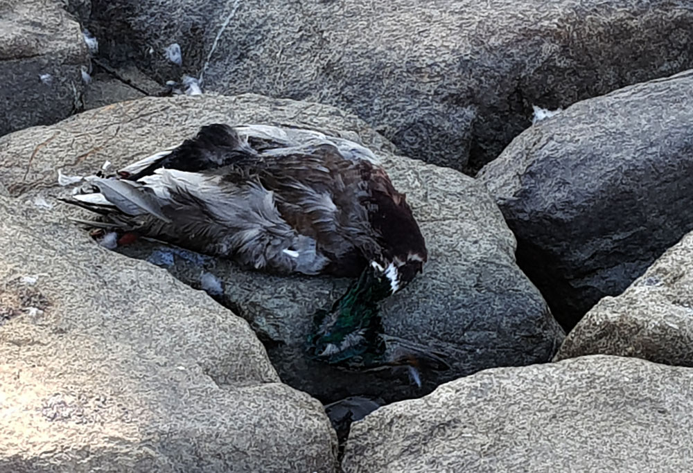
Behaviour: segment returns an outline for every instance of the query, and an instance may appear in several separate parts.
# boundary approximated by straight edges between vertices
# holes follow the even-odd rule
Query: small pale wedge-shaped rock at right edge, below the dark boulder
[[[597,353],[693,366],[693,233],[587,312],[556,359]]]

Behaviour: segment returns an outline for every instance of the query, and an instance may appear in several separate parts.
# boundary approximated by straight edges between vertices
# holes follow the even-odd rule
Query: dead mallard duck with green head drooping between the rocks
[[[354,141],[288,125],[204,125],[175,148],[85,177],[67,202],[101,216],[73,220],[118,242],[159,240],[269,274],[357,278],[315,314],[311,355],[347,367],[443,366],[382,333],[378,303],[421,273],[428,251],[405,195]]]

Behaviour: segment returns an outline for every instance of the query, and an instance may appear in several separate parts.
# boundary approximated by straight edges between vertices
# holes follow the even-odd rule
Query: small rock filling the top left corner
[[[0,0],[0,135],[48,125],[80,107],[89,55],[55,0]]]

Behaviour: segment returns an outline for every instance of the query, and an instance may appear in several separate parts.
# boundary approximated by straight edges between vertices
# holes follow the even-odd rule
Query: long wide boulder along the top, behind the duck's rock
[[[497,157],[532,105],[693,66],[688,0],[92,4],[105,55],[162,83],[188,73],[210,91],[342,107],[403,154],[457,169]],[[166,60],[173,43],[181,66]]]

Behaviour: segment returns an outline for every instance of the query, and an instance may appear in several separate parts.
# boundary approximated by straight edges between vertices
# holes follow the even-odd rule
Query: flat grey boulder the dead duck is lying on
[[[516,266],[514,237],[483,186],[459,172],[392,154],[391,143],[356,116],[333,107],[254,95],[145,98],[109,105],[0,140],[0,185],[9,195],[30,202],[43,197],[59,205],[53,212],[67,213],[66,205],[51,198],[69,194],[56,184],[57,169],[84,175],[106,160],[122,166],[177,145],[200,125],[214,122],[295,123],[361,141],[383,159],[395,186],[407,193],[427,240],[429,262],[423,275],[383,306],[387,333],[442,350],[452,365],[439,375],[424,373],[423,389],[405,371],[349,373],[306,359],[313,313],[340,296],[348,280],[266,276],[153,243],[123,249],[168,267],[195,287],[203,274],[218,277],[224,285],[219,300],[249,321],[283,381],[324,402],[349,395],[392,401],[423,395],[441,382],[483,368],[553,357],[563,332]]]

